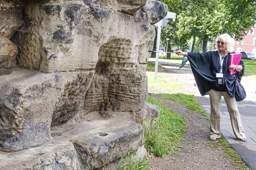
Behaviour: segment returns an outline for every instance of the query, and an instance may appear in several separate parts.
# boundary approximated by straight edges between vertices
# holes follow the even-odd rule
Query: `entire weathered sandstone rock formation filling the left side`
[[[137,123],[158,116],[145,102],[145,71],[151,24],[166,7],[149,0],[1,1],[0,169],[97,169],[102,160],[115,169],[130,148],[145,157]]]

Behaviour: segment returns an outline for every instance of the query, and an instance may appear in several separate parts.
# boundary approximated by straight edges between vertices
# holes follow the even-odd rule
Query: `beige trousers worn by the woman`
[[[228,107],[234,135],[237,139],[245,139],[245,131],[243,130],[236,98],[230,97],[226,91],[216,90],[210,90],[209,96],[211,103],[210,138],[220,138],[220,101],[223,96]]]

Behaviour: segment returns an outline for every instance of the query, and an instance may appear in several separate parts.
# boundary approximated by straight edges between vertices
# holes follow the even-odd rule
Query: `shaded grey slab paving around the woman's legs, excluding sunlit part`
[[[210,117],[210,99],[209,97],[196,97],[201,107],[207,112]],[[240,117],[242,119],[245,135],[248,142],[237,141],[231,127],[226,103],[221,101],[220,109],[220,132],[229,142],[231,147],[239,153],[242,160],[251,168],[256,169],[256,102],[243,100],[237,102],[239,106]]]

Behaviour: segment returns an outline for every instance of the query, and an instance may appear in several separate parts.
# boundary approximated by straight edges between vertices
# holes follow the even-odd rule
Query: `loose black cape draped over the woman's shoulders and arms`
[[[223,60],[223,82],[226,85],[227,92],[230,97],[234,97],[234,74],[229,75],[229,56],[225,56]],[[220,58],[219,51],[210,51],[205,53],[189,52],[188,59],[190,62],[190,67],[194,74],[196,84],[198,85],[198,90],[201,95],[204,96],[208,94],[214,86],[217,85],[216,73],[220,72]],[[243,61],[240,61],[240,65],[243,67],[243,71],[236,73],[236,77],[239,82],[244,74],[245,65]]]

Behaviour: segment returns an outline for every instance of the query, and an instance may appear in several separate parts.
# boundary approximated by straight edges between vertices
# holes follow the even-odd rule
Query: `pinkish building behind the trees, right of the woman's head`
[[[256,55],[256,25],[252,26],[252,31],[246,32],[247,35],[243,37],[243,40],[235,41],[234,50],[236,53],[252,52]]]

